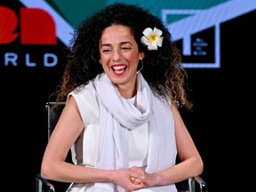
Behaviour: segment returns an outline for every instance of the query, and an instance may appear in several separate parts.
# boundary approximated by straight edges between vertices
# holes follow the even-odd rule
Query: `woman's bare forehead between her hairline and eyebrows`
[[[131,28],[123,25],[113,25],[105,28],[102,32],[101,41],[124,41],[134,39]]]

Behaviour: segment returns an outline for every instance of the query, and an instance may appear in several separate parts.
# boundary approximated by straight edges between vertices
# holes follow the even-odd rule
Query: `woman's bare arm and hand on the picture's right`
[[[151,174],[144,172],[145,180],[135,180],[135,184],[143,181],[147,187],[168,185],[181,180],[187,180],[203,172],[204,164],[202,158],[175,105],[172,105],[172,113],[180,163],[160,172]],[[140,172],[140,174],[143,172],[138,167],[133,167],[132,170]]]

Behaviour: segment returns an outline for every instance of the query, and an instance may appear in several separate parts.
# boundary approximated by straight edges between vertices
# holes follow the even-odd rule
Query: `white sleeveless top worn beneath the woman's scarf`
[[[71,148],[74,164],[94,167],[97,161],[100,138],[100,111],[92,82],[80,92],[70,92],[68,99],[73,96],[84,121],[84,132]],[[131,99],[136,105],[135,98]],[[148,154],[148,123],[129,132],[129,166],[147,165]],[[94,183],[72,183],[67,192],[93,192]],[[150,189],[140,189],[138,192],[150,192]]]

